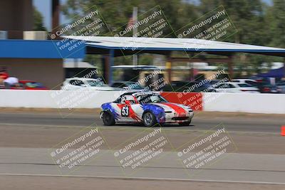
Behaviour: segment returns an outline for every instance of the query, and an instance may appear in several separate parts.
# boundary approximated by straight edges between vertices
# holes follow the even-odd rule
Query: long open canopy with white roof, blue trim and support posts
[[[110,36],[62,36],[71,40],[84,41],[86,53],[108,55],[105,75],[109,83],[112,81],[112,66],[115,56],[133,55],[135,53],[156,53],[168,56],[168,62],[210,62],[199,58],[170,58],[171,51],[185,51],[187,53],[208,53],[219,56],[228,56],[227,59],[212,58],[215,63],[228,63],[229,74],[233,75],[232,55],[234,53],[257,53],[267,56],[285,57],[284,48],[254,46],[242,43],[222,41],[207,41],[195,38],[135,38]],[[171,65],[171,64],[170,64]],[[171,67],[168,69],[168,78],[171,80]]]

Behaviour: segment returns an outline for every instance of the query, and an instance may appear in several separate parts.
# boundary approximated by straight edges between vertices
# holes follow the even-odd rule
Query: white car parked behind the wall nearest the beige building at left
[[[62,90],[118,90],[106,85],[103,80],[93,78],[67,78],[61,87]]]

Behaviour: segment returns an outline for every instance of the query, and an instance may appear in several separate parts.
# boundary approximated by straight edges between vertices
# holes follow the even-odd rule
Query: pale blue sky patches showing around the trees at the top
[[[61,0],[61,4],[65,4],[67,0]],[[195,4],[199,4],[199,0],[186,0],[193,2]],[[266,4],[271,5],[272,0],[262,0]],[[36,9],[41,12],[43,15],[43,23],[44,26],[48,29],[48,31],[51,31],[51,0],[33,0],[33,5],[36,6]],[[68,19],[66,19],[63,14],[60,16],[60,23],[66,23],[68,22]]]

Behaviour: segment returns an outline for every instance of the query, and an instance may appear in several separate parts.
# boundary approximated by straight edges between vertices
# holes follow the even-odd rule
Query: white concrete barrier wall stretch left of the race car
[[[119,95],[94,90],[1,90],[0,107],[97,108]]]

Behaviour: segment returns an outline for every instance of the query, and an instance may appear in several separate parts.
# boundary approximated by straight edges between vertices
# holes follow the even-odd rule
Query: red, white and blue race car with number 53
[[[113,102],[101,105],[104,125],[115,122],[142,122],[146,127],[157,123],[178,123],[188,126],[194,115],[191,107],[167,102],[160,93],[124,93]]]

